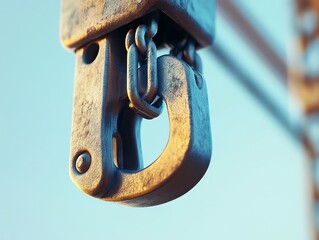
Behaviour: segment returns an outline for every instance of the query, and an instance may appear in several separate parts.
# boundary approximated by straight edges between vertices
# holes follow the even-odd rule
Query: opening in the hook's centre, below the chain
[[[118,132],[113,135],[113,161],[121,170],[139,171],[151,165],[164,151],[169,137],[166,105],[162,114],[144,119],[129,108],[119,114]]]

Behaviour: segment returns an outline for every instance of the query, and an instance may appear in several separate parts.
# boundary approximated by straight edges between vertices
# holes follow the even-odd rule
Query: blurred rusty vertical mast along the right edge
[[[312,211],[311,239],[319,239],[319,187],[316,179],[319,160],[319,2],[296,0],[296,30],[300,48],[298,70],[292,70],[291,89],[304,112],[302,140],[308,156],[309,209]],[[302,70],[301,70],[302,69]]]

